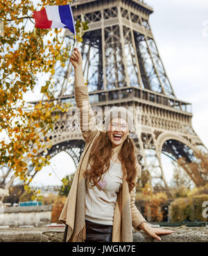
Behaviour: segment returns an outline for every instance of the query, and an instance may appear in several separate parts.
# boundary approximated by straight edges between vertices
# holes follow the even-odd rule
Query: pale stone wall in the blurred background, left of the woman
[[[0,212],[0,226],[33,225],[40,227],[51,223],[51,205],[4,207]]]

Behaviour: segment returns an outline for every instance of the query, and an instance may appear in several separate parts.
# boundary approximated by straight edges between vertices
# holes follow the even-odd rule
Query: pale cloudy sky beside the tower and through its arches
[[[192,126],[208,147],[208,1],[146,0],[153,7],[150,27],[177,99],[192,103]],[[171,161],[162,156],[167,182],[173,176]],[[65,152],[37,173],[33,185],[60,185],[76,170]],[[51,175],[49,175],[51,174]]]

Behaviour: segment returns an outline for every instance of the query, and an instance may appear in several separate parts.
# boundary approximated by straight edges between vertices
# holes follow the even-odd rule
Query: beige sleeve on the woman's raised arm
[[[96,120],[89,104],[89,94],[87,86],[75,86],[75,100],[76,106],[80,111],[80,129],[83,134],[83,138],[86,143],[94,138],[98,127],[96,126]]]

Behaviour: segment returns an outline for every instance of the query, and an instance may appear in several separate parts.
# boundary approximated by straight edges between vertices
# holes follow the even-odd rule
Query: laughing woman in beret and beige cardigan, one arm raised
[[[59,218],[66,224],[64,241],[129,242],[132,226],[161,240],[158,234],[173,231],[150,227],[135,206],[135,184],[141,176],[141,166],[136,159],[137,148],[128,137],[132,114],[124,107],[114,106],[105,117],[105,131],[98,130],[77,48],[70,61],[85,150]]]

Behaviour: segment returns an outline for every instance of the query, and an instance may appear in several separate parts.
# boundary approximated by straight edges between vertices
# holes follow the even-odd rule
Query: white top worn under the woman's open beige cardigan
[[[110,169],[104,173],[101,181],[103,189],[89,187],[85,183],[85,219],[94,223],[113,225],[114,207],[117,193],[121,189],[123,173],[121,164],[110,160]]]

